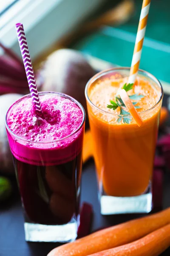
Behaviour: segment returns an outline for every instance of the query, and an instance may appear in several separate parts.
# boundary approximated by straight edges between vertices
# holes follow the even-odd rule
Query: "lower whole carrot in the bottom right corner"
[[[116,248],[89,256],[159,256],[170,246],[170,224],[147,236]]]

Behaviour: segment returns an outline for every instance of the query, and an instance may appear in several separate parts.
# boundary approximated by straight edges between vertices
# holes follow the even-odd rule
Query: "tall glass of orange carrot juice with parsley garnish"
[[[159,80],[144,70],[128,85],[129,73],[126,67],[102,71],[85,88],[103,215],[152,209],[153,160],[163,90]],[[142,119],[140,127],[119,96],[123,87]]]

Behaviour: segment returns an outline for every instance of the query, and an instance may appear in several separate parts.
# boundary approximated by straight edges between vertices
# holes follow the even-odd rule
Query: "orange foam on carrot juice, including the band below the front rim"
[[[115,78],[115,76],[111,76],[105,79],[101,79],[96,81],[96,83],[92,84],[89,88],[88,96],[91,102],[98,107],[99,109],[112,113],[113,115],[103,114],[102,112],[97,111],[96,109],[92,109],[92,112],[95,116],[98,116],[99,119],[102,119],[104,122],[114,124],[114,125],[126,125],[121,119],[120,122],[117,122],[120,115],[120,107],[115,110],[107,108],[108,105],[111,105],[111,100],[116,102],[116,96],[119,97],[119,90],[122,89],[124,84],[128,84],[128,77],[125,78]],[[155,84],[154,84],[155,85]],[[155,85],[156,86],[156,85]],[[144,97],[141,99],[135,100],[131,99],[132,102],[135,102],[136,111],[140,113],[142,121],[146,121],[147,119],[152,118],[152,116],[158,113],[160,107],[153,108],[152,111],[146,111],[152,108],[159,101],[161,97],[161,88],[154,88],[152,84],[149,83],[146,79],[141,79],[137,77],[133,88],[127,91],[127,94],[139,94]],[[127,111],[127,108],[122,106],[122,109]],[[146,112],[143,112],[146,111]],[[141,113],[143,112],[143,113]],[[136,124],[136,121],[131,118],[130,125]]]

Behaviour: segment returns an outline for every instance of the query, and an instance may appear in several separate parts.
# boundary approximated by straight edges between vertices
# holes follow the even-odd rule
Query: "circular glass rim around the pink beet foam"
[[[56,143],[56,142],[60,142],[60,141],[62,141],[62,140],[68,139],[69,137],[73,136],[73,135],[76,134],[76,133],[82,128],[82,126],[84,125],[86,114],[85,114],[85,110],[84,110],[84,108],[83,108],[83,106],[82,106],[81,103],[79,103],[76,99],[74,99],[73,97],[71,97],[71,96],[69,96],[69,95],[67,95],[67,94],[65,94],[65,93],[59,93],[59,92],[54,92],[54,91],[41,91],[41,92],[39,92],[39,95],[44,95],[44,94],[46,94],[46,93],[57,94],[57,95],[62,96],[62,97],[64,97],[64,98],[66,98],[66,99],[70,99],[71,101],[73,101],[74,103],[76,103],[76,104],[78,105],[78,107],[81,109],[82,114],[83,114],[83,119],[82,119],[81,124],[79,125],[79,128],[77,128],[76,131],[74,131],[72,134],[69,134],[69,135],[66,136],[66,137],[63,137],[63,138],[60,138],[60,139],[57,139],[57,140],[49,140],[49,141],[36,141],[36,142],[35,142],[35,141],[32,141],[32,140],[27,140],[27,139],[25,139],[25,138],[22,138],[22,137],[18,136],[17,134],[14,134],[14,132],[10,130],[10,128],[8,127],[8,124],[7,124],[7,115],[8,115],[8,112],[11,110],[11,108],[12,108],[14,105],[16,105],[16,104],[17,104],[18,102],[20,102],[22,99],[27,98],[27,97],[31,98],[31,94],[28,93],[28,94],[24,95],[23,97],[21,97],[20,99],[17,99],[17,101],[15,101],[15,102],[8,108],[8,110],[6,111],[6,115],[5,115],[5,125],[6,125],[6,129],[8,130],[8,132],[9,132],[10,134],[12,134],[12,135],[13,135],[14,137],[16,137],[18,140],[23,140],[23,141],[26,141],[26,142],[29,142],[29,143],[41,144],[41,145],[42,145],[42,144],[48,144],[48,143]]]

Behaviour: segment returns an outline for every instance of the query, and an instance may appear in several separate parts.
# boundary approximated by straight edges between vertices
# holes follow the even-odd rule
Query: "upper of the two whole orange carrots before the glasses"
[[[59,246],[48,256],[87,256],[136,241],[169,223],[170,208],[167,208],[159,213],[108,227],[73,243]]]

